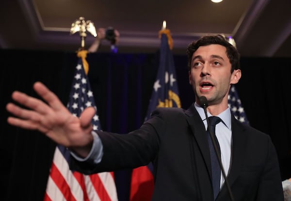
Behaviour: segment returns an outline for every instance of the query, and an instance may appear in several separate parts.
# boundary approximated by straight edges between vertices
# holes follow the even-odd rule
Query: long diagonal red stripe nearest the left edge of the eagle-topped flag
[[[72,195],[70,186],[66,183],[63,175],[54,163],[51,165],[50,177],[58,188],[62,191],[67,201],[76,201],[76,198]]]

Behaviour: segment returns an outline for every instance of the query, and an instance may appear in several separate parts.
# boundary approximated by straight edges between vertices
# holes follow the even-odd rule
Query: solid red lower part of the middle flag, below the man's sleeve
[[[132,170],[130,201],[150,201],[154,191],[154,177],[147,166]]]

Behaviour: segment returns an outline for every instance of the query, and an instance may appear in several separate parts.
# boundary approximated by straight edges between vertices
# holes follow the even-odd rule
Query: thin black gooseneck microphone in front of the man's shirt
[[[208,125],[208,128],[209,128],[210,122],[209,122],[209,118],[208,118],[207,110],[206,110],[206,108],[208,107],[207,98],[205,96],[201,96],[201,97],[199,97],[199,101],[200,101],[200,106],[202,106],[203,109],[204,109],[204,113],[205,113],[207,125]],[[227,178],[226,178],[226,172],[225,172],[225,170],[223,168],[223,165],[222,165],[222,162],[221,162],[221,157],[220,157],[220,155],[218,153],[218,148],[217,148],[216,143],[215,143],[215,140],[214,140],[214,134],[212,133],[211,129],[209,129],[209,132],[210,132],[210,138],[211,138],[211,141],[212,141],[214,150],[215,150],[215,154],[216,154],[216,157],[217,157],[218,162],[219,162],[219,166],[220,166],[221,171],[222,171],[223,178],[225,179],[225,183],[226,183],[226,187],[228,189],[228,193],[229,193],[230,200],[231,201],[234,201],[234,198],[232,196],[232,192],[231,192],[230,186],[229,186],[228,181],[227,181]]]

